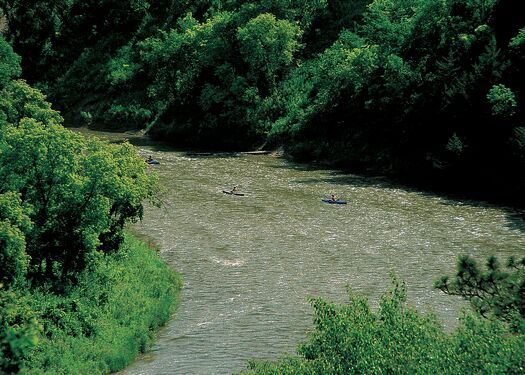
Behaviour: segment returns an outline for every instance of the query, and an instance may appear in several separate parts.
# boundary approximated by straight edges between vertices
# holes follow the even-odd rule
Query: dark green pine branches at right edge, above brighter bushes
[[[481,269],[474,259],[461,256],[454,278],[443,276],[434,285],[465,298],[482,316],[495,316],[525,332],[525,258],[509,258],[505,270],[495,257]]]

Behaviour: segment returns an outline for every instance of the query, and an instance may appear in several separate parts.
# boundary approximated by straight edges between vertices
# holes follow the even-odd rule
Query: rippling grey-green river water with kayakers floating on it
[[[165,191],[137,230],[184,287],[151,350],[121,374],[230,374],[293,353],[313,327],[308,296],[344,302],[349,285],[377,306],[390,272],[450,330],[466,304],[432,284],[458,255],[525,255],[524,216],[511,209],[271,155],[138,147],[160,161],[150,169]],[[246,195],[222,193],[234,185]],[[322,203],[330,193],[348,204]]]

